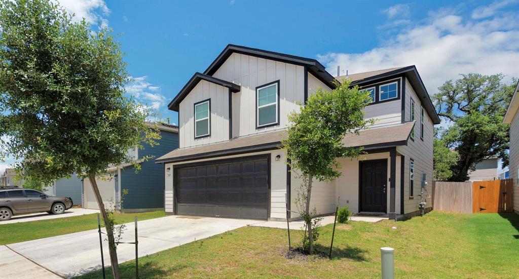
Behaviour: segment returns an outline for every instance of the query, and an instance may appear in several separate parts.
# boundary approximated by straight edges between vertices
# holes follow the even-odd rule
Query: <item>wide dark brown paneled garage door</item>
[[[268,157],[181,166],[176,173],[179,215],[267,219]]]

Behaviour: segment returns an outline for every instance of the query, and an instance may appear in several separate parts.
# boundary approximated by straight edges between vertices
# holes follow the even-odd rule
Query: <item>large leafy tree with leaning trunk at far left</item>
[[[0,0],[0,136],[25,177],[49,185],[71,173],[90,178],[105,222],[114,278],[116,244],[96,175],[131,162],[127,150],[155,144],[147,111],[124,96],[120,46],[46,0]]]

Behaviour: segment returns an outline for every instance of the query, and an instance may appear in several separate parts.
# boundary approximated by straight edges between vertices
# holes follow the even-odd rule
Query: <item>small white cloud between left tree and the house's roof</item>
[[[144,106],[158,110],[166,105],[166,96],[160,93],[160,87],[146,81],[148,77],[131,78],[132,81],[125,87],[126,93],[135,97]]]

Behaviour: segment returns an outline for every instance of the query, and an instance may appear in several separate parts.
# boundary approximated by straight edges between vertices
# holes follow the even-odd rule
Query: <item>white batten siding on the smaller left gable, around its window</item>
[[[201,80],[180,103],[180,147],[190,147],[229,139],[229,89],[207,80]],[[195,139],[194,104],[211,100],[211,135]],[[170,150],[171,151],[171,150]]]

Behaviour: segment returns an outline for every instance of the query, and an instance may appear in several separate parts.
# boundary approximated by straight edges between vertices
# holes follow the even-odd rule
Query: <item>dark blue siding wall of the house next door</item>
[[[139,149],[141,158],[154,156],[155,159],[179,146],[177,133],[160,131],[160,134],[159,145],[144,145],[143,149]],[[140,163],[141,170],[138,173],[135,173],[133,166],[120,171],[121,191],[128,190],[123,198],[124,210],[165,207],[165,175],[162,174],[164,166],[156,164],[154,159]]]

